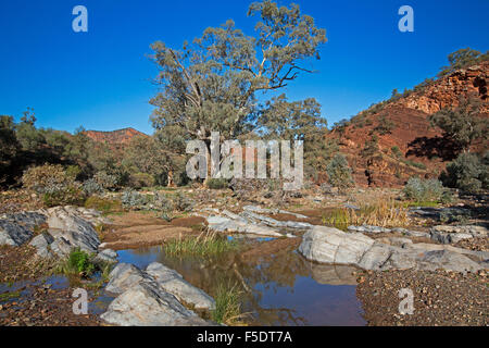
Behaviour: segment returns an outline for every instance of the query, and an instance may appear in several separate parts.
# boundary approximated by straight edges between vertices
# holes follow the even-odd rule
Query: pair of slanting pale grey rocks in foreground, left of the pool
[[[101,318],[122,326],[209,325],[181,302],[212,310],[215,301],[187,283],[179,273],[153,262],[146,271],[121,263],[112,270],[105,290],[118,295]]]

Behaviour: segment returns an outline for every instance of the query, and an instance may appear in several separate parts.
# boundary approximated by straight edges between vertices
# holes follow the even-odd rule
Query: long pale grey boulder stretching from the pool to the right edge
[[[400,244],[402,247],[375,241],[362,234],[315,226],[304,234],[299,252],[308,260],[356,265],[364,270],[437,270],[475,272],[487,265],[486,253],[464,252],[459,248],[432,249],[426,244]],[[478,258],[478,260],[473,260]]]

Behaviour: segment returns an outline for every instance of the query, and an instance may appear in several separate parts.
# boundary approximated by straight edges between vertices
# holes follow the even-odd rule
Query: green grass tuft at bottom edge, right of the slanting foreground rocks
[[[244,315],[241,313],[239,300],[241,293],[236,284],[220,284],[214,296],[215,309],[211,312],[211,319],[220,324],[238,324]]]

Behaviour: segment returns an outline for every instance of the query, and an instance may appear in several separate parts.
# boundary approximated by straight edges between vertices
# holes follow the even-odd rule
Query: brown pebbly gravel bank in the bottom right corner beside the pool
[[[488,275],[437,271],[362,272],[356,296],[369,326],[487,326]],[[400,314],[401,288],[413,291],[414,313]]]

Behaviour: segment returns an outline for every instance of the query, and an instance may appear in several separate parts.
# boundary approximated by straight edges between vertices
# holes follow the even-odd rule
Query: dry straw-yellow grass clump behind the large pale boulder
[[[410,224],[409,211],[394,201],[379,200],[360,210],[336,209],[323,216],[323,224],[346,229],[349,225],[373,225],[380,227],[403,227]]]

